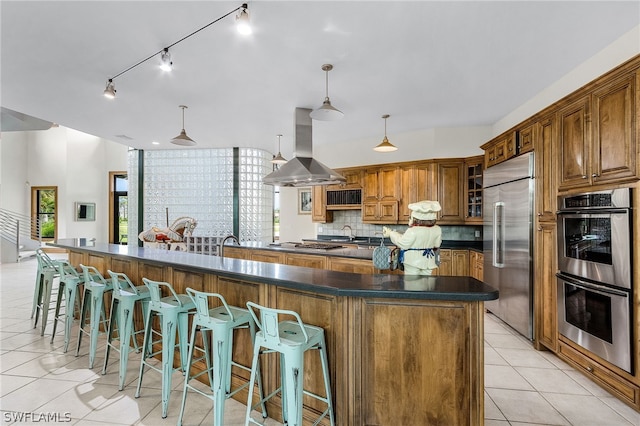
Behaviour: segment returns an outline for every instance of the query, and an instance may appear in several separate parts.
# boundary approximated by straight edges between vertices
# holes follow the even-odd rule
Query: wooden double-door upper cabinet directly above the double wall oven
[[[558,112],[559,189],[635,180],[637,73],[601,85]]]

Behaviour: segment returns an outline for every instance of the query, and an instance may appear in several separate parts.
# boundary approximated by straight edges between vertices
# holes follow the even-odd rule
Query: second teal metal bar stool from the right
[[[233,361],[233,332],[234,330],[248,328],[251,334],[251,341],[253,341],[256,335],[256,325],[247,309],[229,306],[221,294],[205,293],[191,288],[187,288],[187,294],[196,306],[196,314],[191,326],[189,357],[185,370],[187,374],[184,381],[182,404],[180,406],[180,415],[178,416],[177,424],[178,426],[182,425],[184,407],[187,401],[187,391],[191,389],[213,401],[213,424],[214,426],[224,426],[225,400],[249,386],[249,383],[245,383],[233,391],[231,390],[231,367],[236,366],[243,370],[251,371],[251,368]],[[209,300],[216,299],[222,306],[211,308]],[[206,360],[207,368],[192,376],[191,365],[194,361],[193,354],[196,349],[195,342],[198,331],[202,333],[202,341],[204,342],[204,356],[199,359],[204,358]],[[211,335],[213,362],[209,356],[208,334]],[[211,394],[203,392],[189,384],[192,379],[200,377],[203,374],[209,375]],[[262,378],[259,371],[257,374],[257,383],[260,399],[262,400]],[[249,389],[249,392],[252,392],[252,388]],[[262,416],[264,418],[267,417],[267,409],[264,402],[262,402]]]

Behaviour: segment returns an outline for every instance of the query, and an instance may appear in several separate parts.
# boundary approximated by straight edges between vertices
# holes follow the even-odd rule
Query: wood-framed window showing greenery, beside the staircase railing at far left
[[[58,187],[31,188],[31,238],[53,240],[57,236]]]

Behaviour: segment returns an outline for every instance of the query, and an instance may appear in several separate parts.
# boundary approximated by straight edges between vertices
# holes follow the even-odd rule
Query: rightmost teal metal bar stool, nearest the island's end
[[[300,315],[294,311],[267,308],[253,302],[247,302],[247,307],[258,327],[253,343],[250,389],[253,389],[259,373],[260,355],[275,352],[280,356],[280,387],[264,397],[260,403],[264,403],[280,393],[284,423],[289,426],[302,426],[302,398],[303,395],[307,395],[327,404],[326,410],[316,419],[314,425],[320,423],[327,414],[331,425],[335,425],[324,330],[321,327],[303,323]],[[281,315],[293,316],[295,321],[279,321]],[[258,316],[260,319],[258,319]],[[304,353],[311,349],[316,349],[320,352],[325,396],[303,389]],[[260,425],[262,423],[251,417],[251,411],[258,406],[258,404],[252,405],[252,402],[253,393],[249,392],[245,425],[249,423]]]

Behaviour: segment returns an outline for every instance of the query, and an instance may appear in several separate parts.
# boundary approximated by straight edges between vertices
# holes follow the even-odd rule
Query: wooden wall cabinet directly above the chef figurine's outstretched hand
[[[398,167],[366,169],[363,172],[362,221],[397,223],[400,197]]]

